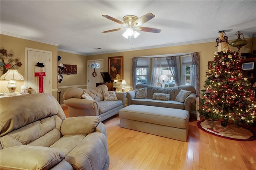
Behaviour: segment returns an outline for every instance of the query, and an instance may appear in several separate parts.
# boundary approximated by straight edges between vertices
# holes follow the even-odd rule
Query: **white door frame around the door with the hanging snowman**
[[[42,53],[49,53],[50,54],[50,61],[49,61],[49,63],[50,63],[49,94],[52,95],[52,74],[51,74],[52,73],[52,51],[44,51],[44,50],[41,50],[41,49],[34,49],[34,48],[25,47],[25,77],[24,77],[24,84],[26,86],[28,86],[28,79],[27,79],[27,77],[28,77],[28,50],[42,52]]]

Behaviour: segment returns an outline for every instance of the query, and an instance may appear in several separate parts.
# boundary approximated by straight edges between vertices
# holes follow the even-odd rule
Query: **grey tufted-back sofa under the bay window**
[[[144,89],[144,97],[136,97],[136,90]],[[177,95],[180,91],[190,91],[191,93],[183,100],[176,100]],[[154,96],[154,93],[155,96]],[[159,99],[159,93],[170,94],[170,96],[165,99]],[[159,94],[159,95],[158,95]],[[158,96],[157,96],[158,95]],[[154,98],[155,97],[155,98]],[[180,85],[174,87],[155,87],[151,85],[146,85],[139,83],[136,85],[136,89],[127,92],[128,105],[148,105],[148,106],[158,106],[158,107],[168,107],[174,109],[183,109],[191,114],[192,104],[196,101],[196,90],[190,85]]]

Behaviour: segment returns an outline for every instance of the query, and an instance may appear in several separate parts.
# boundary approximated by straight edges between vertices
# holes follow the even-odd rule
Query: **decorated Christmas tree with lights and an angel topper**
[[[215,121],[221,119],[222,126],[228,120],[235,125],[254,124],[256,120],[248,77],[242,72],[242,61],[238,52],[228,47],[227,37],[220,34],[217,38],[218,51],[214,53],[214,61],[206,71],[204,90],[200,98],[200,116]]]

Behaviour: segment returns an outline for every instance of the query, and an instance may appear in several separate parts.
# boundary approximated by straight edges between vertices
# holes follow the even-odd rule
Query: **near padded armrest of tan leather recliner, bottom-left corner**
[[[48,170],[65,158],[65,154],[60,150],[43,146],[13,146],[0,150],[0,153],[4,155],[1,156],[0,167],[5,170]]]

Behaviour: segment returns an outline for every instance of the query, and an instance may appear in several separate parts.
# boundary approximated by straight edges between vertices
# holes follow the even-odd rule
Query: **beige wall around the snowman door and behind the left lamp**
[[[52,52],[52,89],[57,89],[57,67],[54,67],[54,65],[57,65],[57,52],[58,47],[55,45],[49,45],[46,43],[40,43],[40,42],[34,42],[30,40],[25,40],[21,38],[15,38],[12,36],[6,36],[3,34],[0,34],[0,48],[6,49],[8,53],[14,54],[14,57],[20,58],[20,61],[22,63],[22,66],[18,68],[18,71],[21,75],[25,75],[25,47],[33,48],[33,49],[40,49],[44,51],[51,51]],[[3,72],[1,71],[0,75],[2,75]],[[26,77],[24,77],[26,79]],[[0,93],[2,93],[2,90],[7,90],[7,82],[8,81],[0,81]],[[17,91],[20,91],[20,87],[24,84],[24,81],[17,81]],[[57,91],[52,91],[52,95],[57,98]]]

